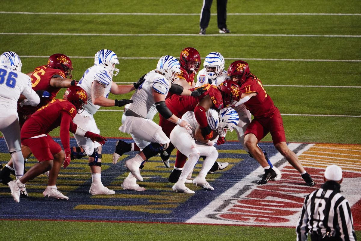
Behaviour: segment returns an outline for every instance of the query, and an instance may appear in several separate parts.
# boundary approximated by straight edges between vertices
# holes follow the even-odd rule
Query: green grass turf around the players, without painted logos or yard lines
[[[1,11],[23,12],[128,12],[199,13],[202,1],[3,1]],[[229,1],[228,13],[360,13],[361,1]],[[212,13],[216,13],[213,3]],[[109,33],[109,34],[197,34],[199,15],[19,15],[0,14],[1,33]],[[207,34],[217,34],[212,16]],[[360,35],[361,16],[237,16],[227,17],[232,34]],[[227,66],[236,58],[248,61],[251,71],[264,85],[361,86],[360,62],[270,61],[252,59],[360,60],[360,38],[281,36],[51,36],[0,35],[0,52],[12,50],[20,56],[94,56],[102,48],[118,57],[179,56],[184,47],[195,47],[204,58],[221,52]],[[47,58],[22,57],[23,72],[47,63]],[[92,59],[73,58],[74,78],[93,64]],[[156,59],[120,59],[121,72],[114,81],[135,81],[156,67]],[[312,115],[361,115],[360,89],[265,86],[281,113]],[[60,91],[61,97],[64,90]],[[109,95],[109,98],[130,98]],[[104,108],[102,108],[104,109]],[[121,109],[112,107],[108,109]],[[117,129],[121,112],[95,115],[101,134],[129,137]],[[157,117],[155,121],[157,121]],[[287,141],[361,143],[360,117],[283,116]],[[58,135],[58,130],[51,133]],[[235,132],[227,134],[235,140]],[[269,135],[264,141],[271,141]],[[1,160],[9,154],[0,153]],[[56,207],[55,207],[56,208]],[[0,215],[1,217],[1,215]],[[48,221],[0,221],[0,240],[295,240],[294,229],[208,225],[129,223],[82,223]],[[360,232],[357,232],[360,236]]]

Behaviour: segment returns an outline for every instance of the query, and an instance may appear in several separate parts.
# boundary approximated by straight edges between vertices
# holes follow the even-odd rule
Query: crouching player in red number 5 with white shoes
[[[15,202],[19,202],[20,190],[27,181],[49,170],[51,174],[49,175],[48,186],[43,192],[44,196],[69,199],[56,187],[56,179],[63,161],[64,168],[70,163],[69,131],[88,137],[92,141],[99,142],[100,145],[103,145],[106,141],[104,137],[87,132],[73,123],[74,116],[86,103],[86,92],[79,86],[71,86],[65,91],[64,99],[53,99],[50,103],[38,109],[25,122],[21,129],[21,143],[30,148],[39,163],[32,166],[20,179],[9,182],[11,195]],[[48,134],[58,126],[60,126],[60,140],[64,151]],[[55,155],[59,156],[59,158],[54,158]]]

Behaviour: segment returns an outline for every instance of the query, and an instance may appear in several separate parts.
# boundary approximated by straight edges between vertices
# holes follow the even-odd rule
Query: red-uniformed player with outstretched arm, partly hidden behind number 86
[[[55,53],[49,57],[47,65],[38,66],[34,72],[28,74],[31,79],[32,89],[36,91],[40,97],[47,98],[40,98],[40,103],[37,106],[18,105],[17,112],[19,115],[20,128],[35,111],[55,99],[55,96],[61,88],[68,88],[77,83],[71,79],[73,77],[71,75],[72,70],[73,64],[70,58],[62,53]],[[27,160],[26,158],[31,155],[30,149],[22,146],[21,151],[25,160]],[[13,162],[12,159],[10,159],[8,164],[0,171],[0,179],[2,179],[1,182],[3,184],[7,184],[12,180],[12,178],[10,178],[10,173],[12,172]],[[24,196],[26,195],[27,194],[24,193]]]

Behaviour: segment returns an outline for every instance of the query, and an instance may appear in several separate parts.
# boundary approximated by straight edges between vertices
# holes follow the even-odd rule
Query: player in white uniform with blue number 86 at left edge
[[[3,133],[11,158],[14,159],[17,179],[23,176],[24,170],[17,102],[22,94],[28,100],[26,104],[36,106],[40,103],[39,96],[31,89],[29,76],[21,73],[21,66],[20,57],[15,52],[8,51],[0,56],[0,132]]]

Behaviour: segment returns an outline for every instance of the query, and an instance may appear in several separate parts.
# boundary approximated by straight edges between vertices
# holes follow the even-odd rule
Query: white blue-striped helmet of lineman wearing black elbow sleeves
[[[181,74],[181,64],[175,57],[166,55],[159,59],[157,70],[170,82],[176,83],[179,80],[177,74]]]

